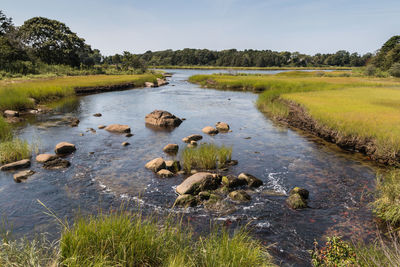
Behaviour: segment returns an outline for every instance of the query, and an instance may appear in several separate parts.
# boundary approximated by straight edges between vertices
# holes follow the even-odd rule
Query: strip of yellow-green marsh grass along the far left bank
[[[21,110],[34,107],[39,102],[71,96],[77,87],[108,86],[133,83],[134,87],[143,86],[146,81],[155,82],[156,75],[88,75],[67,76],[30,81],[0,82],[0,110]]]

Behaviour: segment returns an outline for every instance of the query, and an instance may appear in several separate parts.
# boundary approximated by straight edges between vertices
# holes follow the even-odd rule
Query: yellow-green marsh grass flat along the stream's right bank
[[[289,117],[299,105],[337,139],[371,142],[372,156],[398,162],[400,80],[345,77],[342,72],[287,72],[277,75],[196,75],[204,87],[262,92],[258,107],[272,117]]]

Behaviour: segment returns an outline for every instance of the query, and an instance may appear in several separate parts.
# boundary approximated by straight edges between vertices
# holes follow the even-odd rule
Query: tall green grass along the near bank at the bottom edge
[[[178,221],[114,213],[65,226],[58,245],[45,239],[0,244],[0,266],[272,266],[266,248],[245,230],[206,236]]]

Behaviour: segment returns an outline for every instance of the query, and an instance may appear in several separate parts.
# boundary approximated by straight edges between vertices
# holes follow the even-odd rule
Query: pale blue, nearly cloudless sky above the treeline
[[[400,0],[1,0],[16,25],[66,23],[105,55],[208,48],[374,52],[400,34]]]

